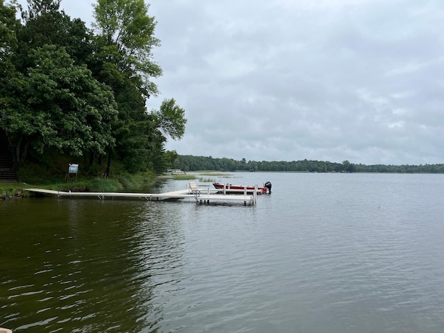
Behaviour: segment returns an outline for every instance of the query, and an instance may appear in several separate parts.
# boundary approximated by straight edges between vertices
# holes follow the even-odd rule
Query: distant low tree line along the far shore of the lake
[[[444,164],[385,165],[354,164],[348,160],[342,163],[298,160],[298,161],[246,161],[212,156],[176,155],[173,169],[183,171],[287,171],[287,172],[375,172],[375,173],[444,173]]]

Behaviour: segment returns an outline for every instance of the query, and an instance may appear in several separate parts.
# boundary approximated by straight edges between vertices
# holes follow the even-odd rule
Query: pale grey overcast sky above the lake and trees
[[[26,1],[23,1],[26,2]],[[148,1],[146,1],[148,3]],[[92,21],[93,0],[62,0]],[[151,0],[180,155],[444,163],[444,1]]]

